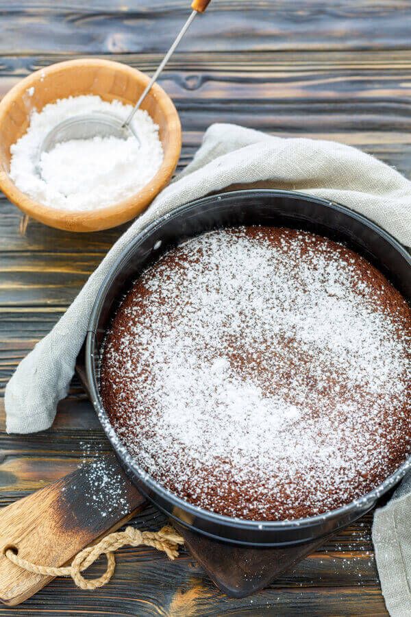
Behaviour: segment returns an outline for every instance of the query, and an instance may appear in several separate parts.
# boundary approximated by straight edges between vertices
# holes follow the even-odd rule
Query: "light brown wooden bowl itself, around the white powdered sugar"
[[[82,59],[52,64],[19,82],[0,102],[0,189],[27,215],[58,229],[89,232],[115,227],[147,208],[171,179],[182,147],[182,129],[170,97],[157,84],[141,108],[160,127],[164,160],[154,178],[136,195],[98,210],[58,210],[30,199],[10,179],[10,146],[27,131],[29,115],[47,103],[78,95],[99,95],[105,101],[118,99],[135,104],[149,77],[130,66],[111,60]],[[29,88],[34,88],[30,96]]]

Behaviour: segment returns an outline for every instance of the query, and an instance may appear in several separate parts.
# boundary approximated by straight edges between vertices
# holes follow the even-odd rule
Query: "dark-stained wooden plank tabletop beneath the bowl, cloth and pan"
[[[0,2],[0,94],[30,71],[99,55],[151,73],[188,12],[188,0]],[[164,73],[184,128],[179,167],[212,122],[280,136],[356,145],[411,176],[410,0],[214,0]],[[69,234],[29,221],[1,197],[0,361],[4,388],[122,229]],[[2,411],[4,426],[4,411]],[[0,503],[44,486],[85,457],[109,451],[79,384],[47,433],[1,433]],[[152,507],[136,520],[158,529]],[[97,592],[58,579],[5,615],[385,615],[366,516],[245,600],[223,596],[192,559],[171,563],[123,549]],[[94,567],[103,570],[103,564]]]

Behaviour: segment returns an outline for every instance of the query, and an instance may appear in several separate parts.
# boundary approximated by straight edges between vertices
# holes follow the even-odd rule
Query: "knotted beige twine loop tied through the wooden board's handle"
[[[164,551],[169,559],[176,559],[179,545],[184,544],[184,539],[172,527],[163,527],[160,531],[140,531],[134,527],[126,527],[124,531],[110,533],[94,546],[84,548],[75,556],[71,566],[64,568],[38,566],[38,564],[33,564],[32,561],[19,557],[18,553],[14,553],[12,548],[8,548],[4,555],[13,564],[27,570],[27,572],[44,574],[48,577],[71,577],[80,589],[93,590],[103,587],[105,583],[110,581],[116,568],[114,552],[126,544],[129,546],[140,546],[141,544],[153,546],[158,551]],[[91,564],[94,564],[101,555],[107,557],[107,568],[104,574],[97,579],[85,579],[82,572],[87,570]]]

